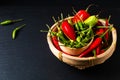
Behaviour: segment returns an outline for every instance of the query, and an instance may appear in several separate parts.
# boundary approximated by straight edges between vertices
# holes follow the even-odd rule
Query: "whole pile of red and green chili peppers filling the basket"
[[[50,30],[51,40],[54,46],[62,51],[60,46],[82,48],[94,37],[92,44],[78,57],[97,56],[105,52],[111,44],[113,25],[109,23],[109,20],[110,17],[103,19],[99,18],[99,15],[90,15],[87,10],[79,10],[72,18],[56,21],[58,22],[57,30]],[[59,45],[59,42],[63,45]]]

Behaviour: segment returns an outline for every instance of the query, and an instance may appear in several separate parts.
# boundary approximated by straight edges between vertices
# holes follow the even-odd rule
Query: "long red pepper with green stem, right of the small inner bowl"
[[[102,38],[103,36],[105,36],[105,34],[109,31],[109,29],[103,33],[100,37],[95,38],[95,40],[93,41],[93,43],[88,47],[87,50],[85,50],[84,52],[82,52],[79,57],[84,57],[86,56],[89,52],[91,52],[93,49],[97,48],[101,43],[102,43]]]

